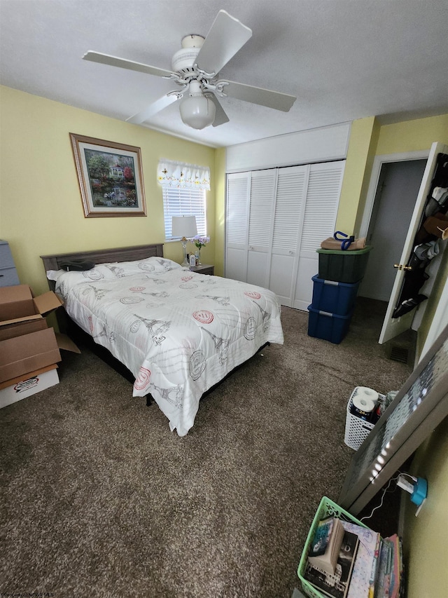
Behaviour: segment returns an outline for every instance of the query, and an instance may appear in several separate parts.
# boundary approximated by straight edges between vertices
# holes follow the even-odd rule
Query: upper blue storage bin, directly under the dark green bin
[[[348,315],[353,310],[360,280],[357,283],[337,283],[335,280],[318,278],[317,274],[311,280],[314,283],[313,309],[337,315]]]

